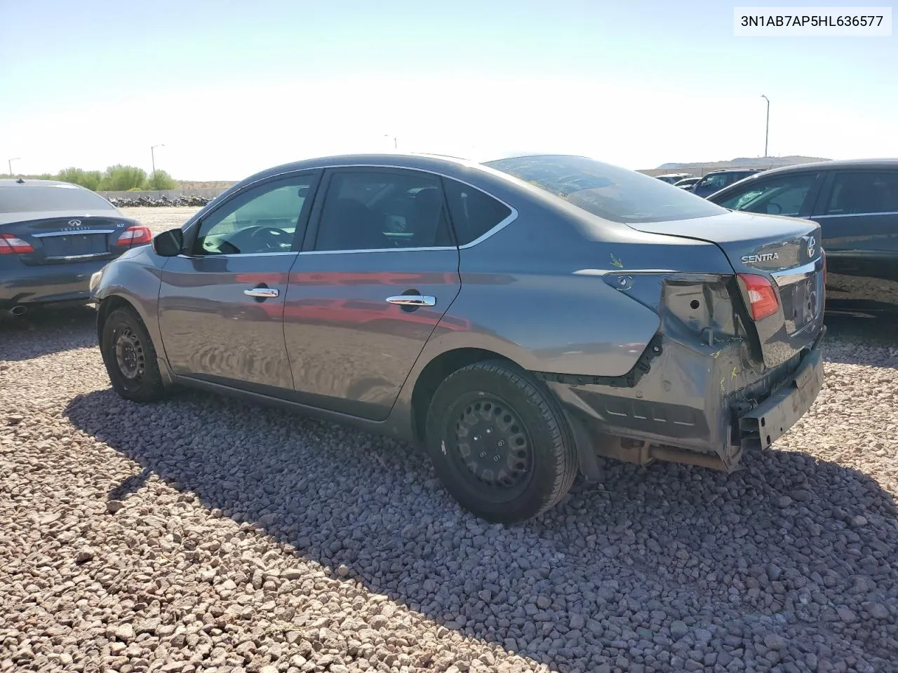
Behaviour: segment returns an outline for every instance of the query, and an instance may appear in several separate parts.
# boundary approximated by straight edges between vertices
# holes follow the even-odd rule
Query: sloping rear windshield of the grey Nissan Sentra
[[[525,156],[484,165],[612,222],[669,222],[726,213],[719,205],[664,180],[585,157]]]

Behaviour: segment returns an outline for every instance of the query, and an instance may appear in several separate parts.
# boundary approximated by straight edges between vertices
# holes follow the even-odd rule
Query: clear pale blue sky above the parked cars
[[[736,38],[735,5],[773,6],[0,0],[2,171],[149,170],[165,144],[176,179],[241,179],[385,135],[644,169],[762,155],[762,94],[771,155],[898,156],[898,38]]]

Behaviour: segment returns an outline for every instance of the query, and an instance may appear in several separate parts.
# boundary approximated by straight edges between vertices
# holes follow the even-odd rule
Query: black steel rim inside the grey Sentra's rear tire
[[[505,402],[478,396],[463,406],[454,439],[458,459],[480,483],[502,490],[526,484],[533,466],[530,441]]]

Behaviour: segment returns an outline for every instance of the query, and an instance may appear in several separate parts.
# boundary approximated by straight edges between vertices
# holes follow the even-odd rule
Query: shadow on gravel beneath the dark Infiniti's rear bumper
[[[90,306],[29,310],[0,319],[0,361],[22,362],[97,345],[97,312]]]

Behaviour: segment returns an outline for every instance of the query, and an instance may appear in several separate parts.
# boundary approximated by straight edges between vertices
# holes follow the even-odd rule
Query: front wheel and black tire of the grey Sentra
[[[166,397],[153,340],[135,310],[110,312],[103,322],[100,350],[112,389],[121,397],[135,402]]]

